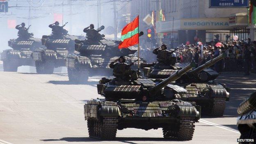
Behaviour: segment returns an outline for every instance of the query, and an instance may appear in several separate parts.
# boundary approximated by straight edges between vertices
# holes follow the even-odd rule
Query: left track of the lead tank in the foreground
[[[117,134],[117,117],[103,117],[101,120],[88,119],[89,137],[112,140]]]

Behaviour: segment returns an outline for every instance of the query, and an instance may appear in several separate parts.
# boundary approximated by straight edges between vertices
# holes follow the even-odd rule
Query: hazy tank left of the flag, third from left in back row
[[[102,27],[102,28],[101,28]],[[104,26],[101,26],[101,30]],[[120,41],[108,40],[103,34],[99,34],[97,39],[75,41],[75,52],[67,57],[66,67],[68,68],[69,81],[76,83],[87,82],[89,75],[112,75],[109,64],[119,56],[126,56],[128,64],[134,62],[137,57],[131,56],[137,52],[135,46],[119,49]],[[139,63],[146,62],[139,58]],[[138,62],[133,68],[137,67]]]

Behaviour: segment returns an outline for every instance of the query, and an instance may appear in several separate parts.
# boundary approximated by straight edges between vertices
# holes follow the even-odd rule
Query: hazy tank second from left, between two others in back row
[[[32,54],[37,73],[52,74],[54,68],[66,66],[66,57],[75,50],[75,39],[79,37],[68,34],[65,29],[61,37],[43,35],[41,43],[46,48],[37,48]]]

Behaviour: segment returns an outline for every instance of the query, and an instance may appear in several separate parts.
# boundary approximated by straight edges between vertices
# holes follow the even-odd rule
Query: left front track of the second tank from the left
[[[40,74],[52,74],[54,70],[54,62],[52,60],[36,61],[36,70]]]

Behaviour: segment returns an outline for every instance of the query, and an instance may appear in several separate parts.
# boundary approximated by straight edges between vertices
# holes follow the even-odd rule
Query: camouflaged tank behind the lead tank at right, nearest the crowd
[[[226,54],[206,62],[192,71],[187,72],[176,81],[176,85],[184,87],[187,94],[180,94],[176,98],[184,101],[193,101],[202,107],[202,112],[214,117],[223,116],[226,101],[229,101],[229,88],[225,84],[215,81],[219,75],[209,67],[226,57]],[[167,78],[172,73],[187,66],[189,63],[176,63],[176,59],[170,65],[142,64],[146,77],[152,79]],[[153,67],[147,67],[153,66]]]

